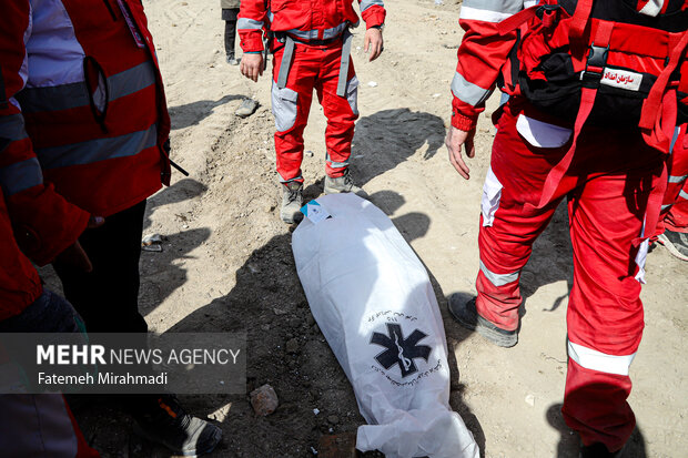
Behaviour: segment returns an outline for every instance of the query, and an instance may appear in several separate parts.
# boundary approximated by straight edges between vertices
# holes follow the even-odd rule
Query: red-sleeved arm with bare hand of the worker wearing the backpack
[[[464,0],[459,26],[466,31],[457,51],[458,64],[452,81],[452,125],[445,140],[449,162],[466,180],[469,169],[461,150],[473,157],[473,138],[485,101],[495,89],[495,82],[516,42],[516,32],[499,35],[497,23],[523,10],[523,0],[485,2]]]

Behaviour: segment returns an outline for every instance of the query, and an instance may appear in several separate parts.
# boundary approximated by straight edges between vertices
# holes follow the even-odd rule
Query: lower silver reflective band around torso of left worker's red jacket
[[[153,124],[145,131],[89,140],[63,146],[44,147],[38,150],[37,154],[43,169],[55,169],[91,164],[107,159],[133,156],[145,149],[154,146],[156,142],[158,129]]]

